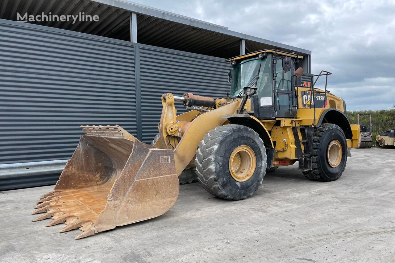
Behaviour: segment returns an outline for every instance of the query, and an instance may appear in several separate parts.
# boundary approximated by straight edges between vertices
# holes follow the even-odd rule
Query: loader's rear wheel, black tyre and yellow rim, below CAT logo
[[[312,170],[303,172],[310,180],[330,182],[339,179],[347,163],[347,141],[342,129],[330,123],[314,130]]]

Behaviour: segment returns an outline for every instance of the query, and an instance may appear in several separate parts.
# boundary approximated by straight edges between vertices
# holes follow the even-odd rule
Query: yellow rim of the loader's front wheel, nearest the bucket
[[[254,151],[247,145],[236,147],[230,154],[230,175],[238,182],[245,182],[254,174],[256,157]]]

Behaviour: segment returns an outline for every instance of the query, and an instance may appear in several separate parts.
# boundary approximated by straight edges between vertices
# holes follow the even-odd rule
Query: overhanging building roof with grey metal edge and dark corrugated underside
[[[137,42],[198,54],[230,58],[239,54],[240,39],[245,40],[246,53],[275,49],[298,55],[310,55],[311,51],[275,41],[249,36],[228,28],[175,13],[122,0],[3,0],[0,19],[17,20],[23,15],[77,15],[84,12],[98,15],[99,22],[44,21],[29,22],[130,40],[130,13],[137,14]]]

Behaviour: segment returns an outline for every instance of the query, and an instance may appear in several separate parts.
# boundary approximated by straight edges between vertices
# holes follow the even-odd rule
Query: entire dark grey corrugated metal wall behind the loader
[[[81,124],[119,124],[149,143],[161,94],[229,91],[222,58],[2,19],[0,62],[0,164],[69,159]],[[57,177],[0,177],[0,190]]]

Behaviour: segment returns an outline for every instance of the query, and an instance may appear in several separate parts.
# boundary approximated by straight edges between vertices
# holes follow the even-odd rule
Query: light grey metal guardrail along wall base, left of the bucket
[[[0,164],[0,178],[61,173],[68,160]]]

